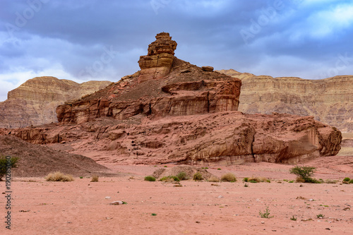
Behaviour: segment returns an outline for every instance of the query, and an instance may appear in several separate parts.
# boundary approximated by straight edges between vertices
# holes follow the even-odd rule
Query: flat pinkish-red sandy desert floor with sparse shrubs
[[[182,187],[143,180],[164,165],[109,164],[118,176],[98,182],[15,177],[11,230],[4,223],[6,201],[0,200],[0,234],[353,234],[353,184],[340,183],[353,178],[352,157],[321,157],[306,165],[316,167],[316,179],[338,182],[289,183],[296,178],[289,174],[293,166],[265,162],[208,169],[216,176],[232,172],[235,183],[189,180]],[[244,187],[242,178],[251,176],[271,182]],[[0,185],[4,192],[5,182]],[[127,204],[109,205],[115,200]],[[270,218],[259,215],[266,208]]]

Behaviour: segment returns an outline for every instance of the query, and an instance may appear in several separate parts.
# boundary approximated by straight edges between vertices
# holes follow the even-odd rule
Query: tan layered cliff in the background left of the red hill
[[[8,99],[0,102],[0,127],[20,128],[57,122],[55,109],[59,104],[76,100],[110,83],[89,81],[79,84],[54,77],[32,78],[8,92]]]

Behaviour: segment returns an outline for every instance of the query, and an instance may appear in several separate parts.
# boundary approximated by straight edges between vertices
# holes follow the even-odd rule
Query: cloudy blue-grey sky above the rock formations
[[[30,78],[118,81],[159,32],[197,66],[353,74],[353,0],[0,0],[0,101]]]

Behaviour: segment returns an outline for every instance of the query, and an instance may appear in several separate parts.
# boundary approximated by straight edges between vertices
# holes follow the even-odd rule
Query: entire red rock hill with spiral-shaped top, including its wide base
[[[297,163],[340,150],[340,131],[313,116],[237,111],[241,80],[177,59],[176,48],[162,32],[140,71],[60,105],[59,123],[0,132],[117,164]]]

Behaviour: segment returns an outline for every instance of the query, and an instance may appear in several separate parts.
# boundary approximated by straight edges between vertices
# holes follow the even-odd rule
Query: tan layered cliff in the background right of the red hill
[[[220,72],[241,79],[241,112],[314,116],[342,132],[353,132],[353,76],[305,80],[255,76],[233,69]]]

